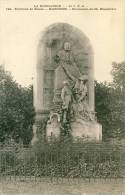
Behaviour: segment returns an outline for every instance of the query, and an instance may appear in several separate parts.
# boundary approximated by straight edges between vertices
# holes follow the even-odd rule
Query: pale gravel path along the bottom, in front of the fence
[[[125,195],[125,180],[0,181],[0,195]]]

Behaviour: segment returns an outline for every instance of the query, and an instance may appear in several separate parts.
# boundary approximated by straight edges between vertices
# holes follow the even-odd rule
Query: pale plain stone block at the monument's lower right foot
[[[88,141],[101,141],[102,140],[102,125],[97,122],[77,120],[71,123],[72,137],[74,140],[77,138],[84,138]]]

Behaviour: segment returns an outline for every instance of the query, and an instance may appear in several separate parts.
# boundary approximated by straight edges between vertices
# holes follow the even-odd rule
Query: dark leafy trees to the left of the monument
[[[0,141],[9,137],[24,144],[32,138],[33,89],[21,87],[0,66]]]

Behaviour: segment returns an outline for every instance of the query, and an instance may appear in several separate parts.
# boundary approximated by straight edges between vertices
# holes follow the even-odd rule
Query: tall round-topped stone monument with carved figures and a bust
[[[36,111],[32,143],[49,137],[102,139],[94,106],[94,57],[89,39],[74,26],[56,23],[37,50]]]

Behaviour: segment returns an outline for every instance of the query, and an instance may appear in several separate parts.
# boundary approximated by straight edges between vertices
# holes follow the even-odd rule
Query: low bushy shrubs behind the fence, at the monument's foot
[[[4,148],[0,172],[17,176],[125,177],[125,150],[120,144],[38,142],[33,147]],[[5,163],[6,162],[6,163]]]

